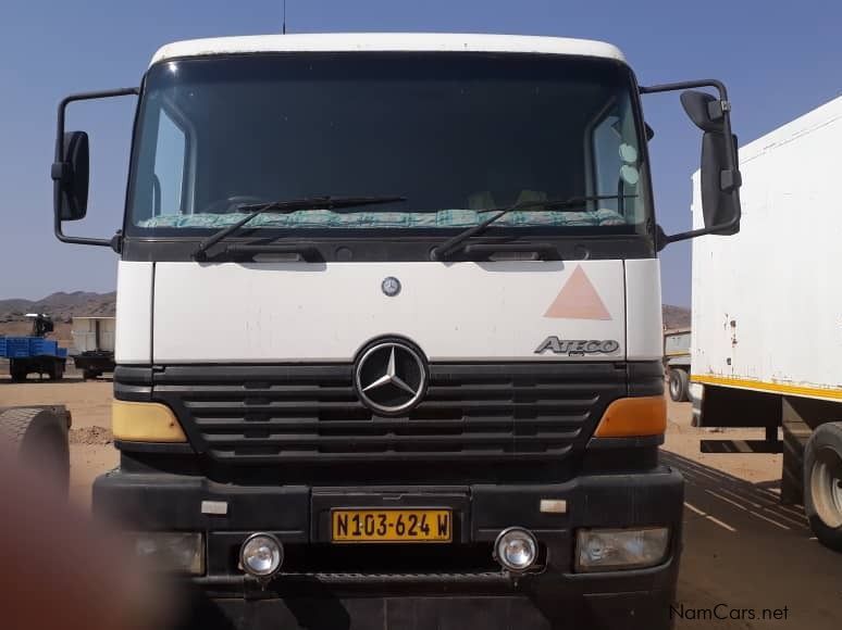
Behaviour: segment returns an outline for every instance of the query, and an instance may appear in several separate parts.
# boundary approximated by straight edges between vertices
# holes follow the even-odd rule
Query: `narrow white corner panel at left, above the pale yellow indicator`
[[[152,263],[120,261],[117,266],[116,335],[119,364],[152,361]]]

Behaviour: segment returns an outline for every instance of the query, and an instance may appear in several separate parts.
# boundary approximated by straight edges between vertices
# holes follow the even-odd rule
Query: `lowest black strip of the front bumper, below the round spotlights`
[[[672,590],[592,593],[579,600],[496,596],[209,598],[197,593],[182,628],[248,630],[661,630]]]

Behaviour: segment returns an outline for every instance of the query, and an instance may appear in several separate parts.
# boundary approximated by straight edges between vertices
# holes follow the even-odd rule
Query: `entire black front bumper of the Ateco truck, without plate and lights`
[[[562,500],[546,514],[542,499]],[[225,514],[203,514],[202,502]],[[187,618],[201,628],[670,628],[681,552],[683,481],[672,470],[577,477],[556,484],[309,488],[230,486],[203,477],[126,474],[100,477],[94,509],[135,530],[202,531],[207,574],[190,580]],[[493,542],[502,529],[532,530],[546,550],[544,569],[512,580],[500,571],[376,572],[285,567],[265,587],[236,567],[236,550],[255,531],[284,545],[329,547],[332,507],[450,507],[454,545]],[[669,526],[669,555],[657,567],[577,574],[575,530]],[[389,545],[372,554],[389,553]]]

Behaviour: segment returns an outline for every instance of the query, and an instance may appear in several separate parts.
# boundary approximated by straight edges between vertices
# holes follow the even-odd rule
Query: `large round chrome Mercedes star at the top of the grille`
[[[398,415],[416,406],[426,388],[426,367],[418,351],[399,341],[369,348],[354,373],[357,395],[371,411]]]

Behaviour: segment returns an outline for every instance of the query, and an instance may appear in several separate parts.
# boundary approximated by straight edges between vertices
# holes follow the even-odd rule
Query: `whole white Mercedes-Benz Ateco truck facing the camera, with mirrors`
[[[689,88],[707,223],[667,236],[640,94]],[[122,228],[65,236],[64,110],[127,96]],[[656,254],[735,230],[729,111],[606,43],[478,35],[178,42],[69,97],[57,235],[120,257],[95,512],[202,627],[667,628]]]

